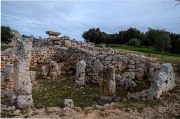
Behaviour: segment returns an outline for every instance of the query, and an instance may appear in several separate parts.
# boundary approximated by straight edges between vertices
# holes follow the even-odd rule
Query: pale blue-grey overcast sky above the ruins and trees
[[[48,30],[71,39],[84,40],[82,33],[100,28],[116,33],[129,27],[166,29],[180,33],[180,5],[175,0],[116,1],[2,1],[1,25],[21,35],[42,36]]]

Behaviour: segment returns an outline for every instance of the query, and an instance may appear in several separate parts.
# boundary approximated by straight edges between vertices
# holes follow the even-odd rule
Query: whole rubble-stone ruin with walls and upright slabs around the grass
[[[151,81],[151,87],[129,94],[128,98],[159,99],[163,92],[175,86],[171,64],[162,64],[160,71],[155,73],[159,64],[143,55],[117,52],[106,48],[105,44],[103,48],[94,47],[93,43],[70,40],[68,36],[39,40],[19,38],[13,50],[1,55],[1,72],[4,72],[1,85],[5,87],[7,81],[14,84],[9,86],[14,88],[11,104],[18,108],[33,105],[31,90],[36,73],[29,68],[42,64],[49,64],[41,67],[42,78],[58,79],[62,74],[75,72],[74,86],[82,87],[86,83],[99,85],[101,100],[105,102],[116,100],[116,87],[134,90],[136,81],[144,78]]]

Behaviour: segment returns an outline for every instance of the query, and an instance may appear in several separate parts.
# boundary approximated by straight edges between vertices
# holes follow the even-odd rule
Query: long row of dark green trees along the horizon
[[[136,28],[121,30],[118,33],[107,34],[99,28],[91,28],[83,32],[85,42],[95,44],[127,44],[131,46],[150,46],[161,51],[170,51],[180,54],[180,34],[171,33],[164,29],[148,28],[148,31],[141,32]]]

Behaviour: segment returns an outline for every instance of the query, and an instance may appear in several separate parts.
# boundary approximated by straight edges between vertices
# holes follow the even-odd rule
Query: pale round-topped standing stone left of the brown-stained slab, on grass
[[[86,75],[85,68],[86,68],[86,62],[84,60],[80,60],[79,62],[77,62],[75,87],[85,85],[85,75]]]

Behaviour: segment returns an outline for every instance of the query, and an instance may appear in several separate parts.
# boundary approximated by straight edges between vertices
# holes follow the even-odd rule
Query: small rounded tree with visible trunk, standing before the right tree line
[[[164,50],[168,50],[171,48],[171,39],[169,37],[169,34],[164,31],[161,32],[161,34],[156,36],[154,47],[155,49],[162,51],[163,58]]]

